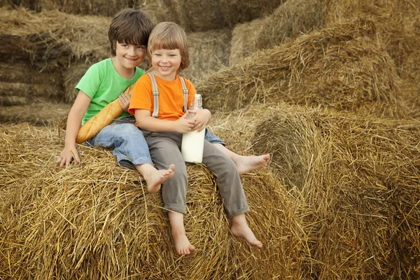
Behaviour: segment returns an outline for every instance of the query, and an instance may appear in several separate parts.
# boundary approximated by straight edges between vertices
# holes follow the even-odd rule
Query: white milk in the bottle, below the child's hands
[[[181,153],[186,162],[202,163],[206,129],[182,134]]]

